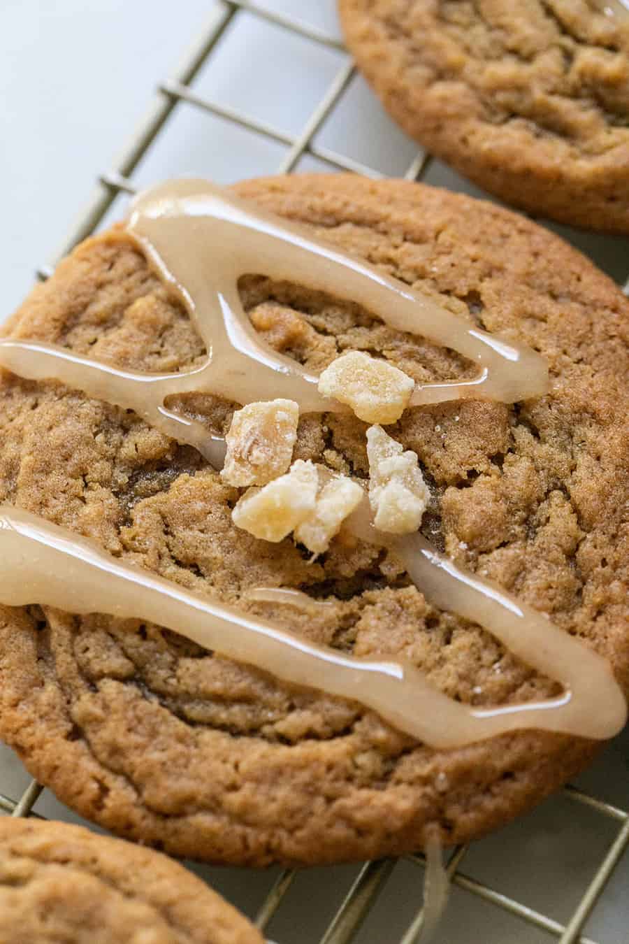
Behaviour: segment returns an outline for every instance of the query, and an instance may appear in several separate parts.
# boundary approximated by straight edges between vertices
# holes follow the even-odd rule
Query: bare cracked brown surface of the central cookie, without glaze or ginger
[[[546,359],[547,396],[411,408],[388,430],[419,456],[426,537],[582,638],[629,688],[629,302],[618,288],[530,221],[419,184],[277,177],[237,192]],[[356,303],[256,272],[240,294],[260,336],[313,373],[363,349],[421,382],[474,375],[452,349]],[[170,372],[204,358],[186,312],[123,228],[79,246],[8,331],[125,369]],[[189,393],[167,406],[224,433],[235,405]],[[236,528],[239,490],[131,411],[5,372],[0,427],[0,501],[124,562],[341,653],[405,657],[466,704],[557,694],[481,627],[427,602],[395,554],[339,537],[312,562],[290,538],[272,544]],[[366,429],[350,413],[306,413],[293,459],[364,479]],[[252,597],[260,586],[310,599],[263,602]],[[539,801],[598,747],[527,730],[434,750],[356,702],[280,683],[140,620],[40,606],[0,613],[0,735],[83,816],[175,854],[317,863],[401,854],[428,834],[464,841]]]

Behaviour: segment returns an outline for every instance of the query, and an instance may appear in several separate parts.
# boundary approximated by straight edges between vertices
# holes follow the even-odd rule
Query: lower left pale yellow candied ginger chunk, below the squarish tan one
[[[240,497],[232,520],[237,528],[264,541],[281,541],[315,509],[319,476],[309,460],[298,459],[290,471]]]

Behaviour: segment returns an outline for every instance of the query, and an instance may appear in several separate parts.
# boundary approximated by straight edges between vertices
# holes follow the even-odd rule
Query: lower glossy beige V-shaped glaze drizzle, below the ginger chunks
[[[413,580],[442,605],[481,617],[521,658],[566,686],[564,694],[504,708],[460,704],[403,660],[348,656],[273,623],[190,593],[125,563],[41,517],[0,506],[0,603],[54,606],[76,614],[136,617],[187,636],[286,682],[356,700],[391,725],[440,749],[520,728],[606,738],[621,730],[626,703],[605,660],[488,582],[460,571],[415,538],[401,539]],[[417,553],[419,551],[419,554]],[[415,563],[415,558],[420,563]],[[592,709],[595,705],[595,710]]]

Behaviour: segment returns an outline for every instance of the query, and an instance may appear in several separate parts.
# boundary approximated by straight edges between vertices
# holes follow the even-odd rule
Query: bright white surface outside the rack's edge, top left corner
[[[206,9],[203,0],[0,0],[3,315]]]

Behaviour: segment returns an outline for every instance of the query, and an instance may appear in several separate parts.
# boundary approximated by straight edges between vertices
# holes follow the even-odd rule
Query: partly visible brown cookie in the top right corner
[[[428,151],[523,210],[629,232],[621,0],[339,0],[358,67]]]

